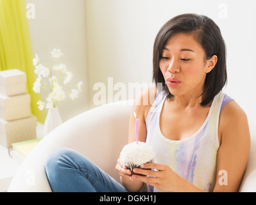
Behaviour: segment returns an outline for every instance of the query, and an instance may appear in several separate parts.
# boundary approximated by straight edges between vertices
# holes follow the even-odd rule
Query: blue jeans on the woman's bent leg
[[[115,179],[72,149],[59,148],[46,161],[53,192],[127,192]]]

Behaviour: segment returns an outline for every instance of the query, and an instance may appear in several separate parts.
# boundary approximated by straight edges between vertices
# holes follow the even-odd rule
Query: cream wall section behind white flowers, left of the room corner
[[[34,54],[49,67],[53,65],[51,51],[64,53],[58,62],[73,72],[72,83],[83,81],[78,99],[58,102],[62,120],[88,109],[86,28],[84,0],[26,0],[35,5],[35,19],[29,19],[31,44]]]

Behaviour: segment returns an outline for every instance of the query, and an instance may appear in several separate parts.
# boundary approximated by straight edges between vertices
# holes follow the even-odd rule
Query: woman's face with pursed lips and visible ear
[[[193,35],[178,33],[167,40],[159,67],[171,94],[198,97],[203,92],[206,74],[216,62],[217,56],[205,61],[205,51]]]

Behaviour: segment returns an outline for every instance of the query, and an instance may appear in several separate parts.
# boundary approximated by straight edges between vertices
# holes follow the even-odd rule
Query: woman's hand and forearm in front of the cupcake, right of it
[[[143,169],[142,169],[143,168]],[[180,177],[174,172],[168,165],[162,165],[158,163],[146,163],[142,168],[134,168],[133,172],[137,174],[144,174],[146,176],[132,175],[132,179],[140,180],[151,186],[164,191],[164,192],[200,192],[201,190],[196,188],[189,181]],[[150,168],[155,170],[146,170],[144,168]]]

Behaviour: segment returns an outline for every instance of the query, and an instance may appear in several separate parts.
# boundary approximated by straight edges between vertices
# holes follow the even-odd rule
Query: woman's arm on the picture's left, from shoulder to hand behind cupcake
[[[141,94],[139,94],[132,107],[132,111],[130,113],[130,122],[129,122],[129,134],[128,134],[128,143],[134,142],[136,140],[135,136],[135,117],[133,115],[134,112],[137,113],[137,118],[139,120],[139,129],[138,129],[138,138],[141,142],[146,142],[146,117],[148,115],[148,111],[151,108],[151,103],[149,99],[155,99],[155,95],[157,94],[157,88],[150,87],[142,89]],[[117,165],[115,169],[119,172],[120,182],[126,188],[126,190],[130,192],[139,191],[143,184],[139,180],[133,180],[130,176],[132,174],[131,170],[127,169],[124,165],[122,165],[117,160]]]

